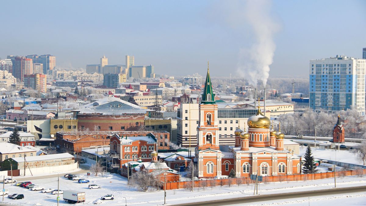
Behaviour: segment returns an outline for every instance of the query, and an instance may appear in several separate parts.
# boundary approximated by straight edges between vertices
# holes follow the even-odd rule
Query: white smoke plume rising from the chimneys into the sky
[[[254,43],[250,48],[240,49],[238,72],[254,86],[258,80],[266,86],[276,49],[273,36],[279,26],[270,15],[270,7],[269,0],[248,0],[243,11],[244,20],[253,29]]]

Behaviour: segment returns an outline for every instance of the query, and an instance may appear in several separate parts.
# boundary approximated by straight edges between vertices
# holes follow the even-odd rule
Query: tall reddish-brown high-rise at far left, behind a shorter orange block
[[[24,56],[16,56],[12,59],[13,70],[12,74],[20,82],[23,82],[25,74],[33,74],[33,60]]]

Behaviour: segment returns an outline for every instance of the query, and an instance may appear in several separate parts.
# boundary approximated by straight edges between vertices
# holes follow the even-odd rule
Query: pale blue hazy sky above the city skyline
[[[270,3],[270,1],[269,1]],[[237,76],[255,41],[242,1],[1,1],[0,58],[52,54],[56,67],[154,65],[157,74]],[[268,5],[276,50],[270,77],[307,77],[310,59],[361,58],[366,1],[278,0]],[[264,11],[266,12],[266,11]],[[252,19],[253,20],[253,19]],[[255,20],[255,19],[254,19]]]

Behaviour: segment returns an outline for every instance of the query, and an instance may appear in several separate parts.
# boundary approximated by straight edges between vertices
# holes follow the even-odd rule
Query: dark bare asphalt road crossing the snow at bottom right
[[[201,205],[220,206],[220,205],[231,205],[238,203],[261,202],[276,199],[290,199],[290,198],[301,198],[301,197],[332,195],[332,194],[350,194],[351,192],[363,192],[363,191],[366,191],[366,186],[332,188],[332,189],[315,190],[315,191],[289,192],[289,193],[270,194],[270,195],[251,195],[242,198],[193,202],[193,203],[178,204],[175,206],[201,206]]]

